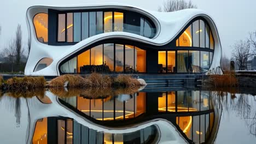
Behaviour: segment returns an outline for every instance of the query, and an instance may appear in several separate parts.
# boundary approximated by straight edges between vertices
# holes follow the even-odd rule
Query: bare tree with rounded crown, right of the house
[[[246,64],[248,58],[251,56],[251,50],[250,50],[250,43],[249,41],[237,41],[232,47],[232,57],[237,62],[237,65],[239,67],[239,70],[242,69],[242,66]]]

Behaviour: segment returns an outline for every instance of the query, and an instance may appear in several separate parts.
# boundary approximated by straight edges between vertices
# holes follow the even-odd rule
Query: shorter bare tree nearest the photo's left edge
[[[6,46],[3,50],[3,56],[7,57],[8,63],[11,64],[11,73],[13,74],[13,64],[15,61],[16,49],[15,49],[15,41],[11,40],[9,45]]]

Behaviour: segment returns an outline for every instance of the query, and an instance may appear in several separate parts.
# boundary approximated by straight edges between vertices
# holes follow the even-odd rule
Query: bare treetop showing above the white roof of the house
[[[171,12],[171,11],[177,11],[182,9],[196,9],[197,6],[192,4],[191,1],[186,2],[184,0],[166,0],[162,7],[159,6],[158,11],[165,11],[165,12]]]

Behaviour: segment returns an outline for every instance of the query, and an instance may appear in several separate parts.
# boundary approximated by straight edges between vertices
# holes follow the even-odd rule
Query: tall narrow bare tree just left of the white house
[[[15,51],[16,51],[16,64],[19,65],[20,64],[20,59],[22,56],[22,32],[21,32],[21,26],[20,24],[17,27],[16,30],[16,35],[15,35]]]

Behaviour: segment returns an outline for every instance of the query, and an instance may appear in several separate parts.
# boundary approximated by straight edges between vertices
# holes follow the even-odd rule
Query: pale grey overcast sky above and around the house
[[[158,10],[165,0],[8,0],[0,5],[0,51],[14,37],[18,23],[21,24],[24,47],[27,43],[26,10],[32,5],[71,5],[101,2],[124,3],[148,10]],[[192,0],[197,8],[205,10],[215,21],[219,31],[223,53],[231,56],[231,45],[237,40],[246,39],[248,33],[256,31],[256,1],[252,0]]]

